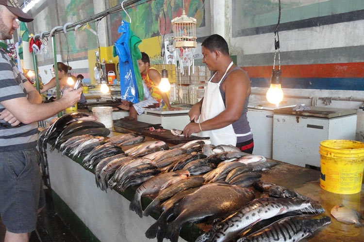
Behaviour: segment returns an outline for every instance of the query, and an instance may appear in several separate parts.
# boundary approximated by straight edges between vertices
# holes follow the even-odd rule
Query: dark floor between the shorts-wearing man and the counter
[[[38,215],[36,231],[33,231],[30,242],[78,242],[53,209],[52,198],[46,192],[46,207]],[[0,242],[4,241],[5,227],[0,218]]]

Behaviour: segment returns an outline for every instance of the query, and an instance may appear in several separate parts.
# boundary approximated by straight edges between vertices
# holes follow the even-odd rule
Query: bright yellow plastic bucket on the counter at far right
[[[331,193],[355,194],[362,188],[364,143],[331,139],[320,142],[320,185]]]

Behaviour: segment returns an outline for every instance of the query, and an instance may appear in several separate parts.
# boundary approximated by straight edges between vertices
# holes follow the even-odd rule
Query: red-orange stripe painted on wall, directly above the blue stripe
[[[252,78],[270,78],[272,66],[241,67]],[[276,67],[277,68],[277,67]],[[286,78],[362,78],[364,62],[310,64],[310,65],[284,65],[281,66],[282,77]]]

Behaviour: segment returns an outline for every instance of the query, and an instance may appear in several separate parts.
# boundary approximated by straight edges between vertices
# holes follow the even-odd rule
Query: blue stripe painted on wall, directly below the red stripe
[[[250,78],[251,87],[268,88],[268,78]],[[282,88],[364,91],[364,78],[282,78]]]

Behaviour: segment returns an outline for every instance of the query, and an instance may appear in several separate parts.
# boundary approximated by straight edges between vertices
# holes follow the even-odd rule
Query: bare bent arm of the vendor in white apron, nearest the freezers
[[[232,72],[224,84],[226,109],[215,118],[200,123],[203,131],[226,127],[237,121],[243,112],[244,102],[250,87],[248,75],[243,71]],[[200,132],[198,123],[190,123],[183,130],[186,136],[198,132]]]

